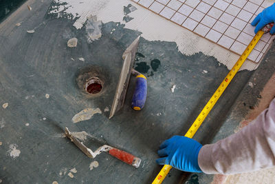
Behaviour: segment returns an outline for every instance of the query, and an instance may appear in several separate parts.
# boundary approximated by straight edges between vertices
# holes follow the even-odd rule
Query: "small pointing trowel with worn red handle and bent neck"
[[[89,156],[91,159],[94,159],[98,154],[100,154],[102,152],[107,152],[108,154],[111,154],[111,156],[114,156],[116,159],[119,159],[120,161],[123,161],[124,163],[132,165],[135,168],[140,167],[141,159],[137,158],[136,156],[133,156],[133,154],[129,154],[129,153],[119,150],[115,147],[111,147],[110,145],[102,145],[102,146],[98,147],[98,149],[95,152],[93,152],[93,151],[91,151],[91,149],[86,147],[83,143],[78,141],[78,139],[71,132],[69,132],[67,127],[65,127],[65,135],[69,139],[71,139],[71,141],[84,154]]]

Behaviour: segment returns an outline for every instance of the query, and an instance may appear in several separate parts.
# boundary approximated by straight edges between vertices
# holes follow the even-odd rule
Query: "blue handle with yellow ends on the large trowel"
[[[132,108],[142,110],[147,96],[147,79],[143,74],[136,76],[135,91],[133,92]]]

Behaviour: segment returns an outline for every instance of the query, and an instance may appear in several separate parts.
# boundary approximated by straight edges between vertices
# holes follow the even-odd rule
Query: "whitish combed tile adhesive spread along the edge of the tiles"
[[[142,37],[148,41],[171,41],[177,43],[178,50],[182,54],[190,56],[202,52],[215,57],[230,70],[239,59],[238,54],[230,52],[221,46],[212,43],[197,34],[190,32],[179,25],[172,23],[157,14],[142,8],[130,0],[54,0],[49,14],[58,14],[58,17],[75,19],[74,27],[80,29],[87,18],[96,16],[98,21],[108,23],[110,21],[124,23],[131,30],[142,32]],[[131,21],[125,21],[124,6],[131,3],[137,10],[129,13]],[[127,14],[128,16],[128,14]],[[124,20],[124,21],[123,21]],[[241,70],[255,70],[259,63],[245,61]]]

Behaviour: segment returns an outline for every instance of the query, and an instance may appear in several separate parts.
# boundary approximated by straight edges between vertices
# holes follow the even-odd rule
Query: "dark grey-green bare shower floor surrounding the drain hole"
[[[175,43],[142,38],[135,69],[148,78],[146,105],[140,112],[131,109],[132,77],[124,108],[109,120],[104,108],[111,108],[122,53],[142,33],[109,22],[102,25],[102,37],[88,43],[85,28],[76,30],[73,21],[46,16],[49,6],[50,2],[33,1],[32,12],[19,9],[8,22],[0,24],[0,104],[9,104],[6,109],[0,108],[4,121],[0,128],[0,179],[3,183],[151,183],[161,169],[155,163],[159,144],[175,134],[185,134],[228,69],[214,57],[202,53],[188,57],[177,50]],[[23,23],[17,27],[20,21]],[[26,32],[33,28],[33,34]],[[78,39],[77,47],[67,48],[67,41],[73,37]],[[89,96],[78,88],[76,79],[95,66],[102,71],[104,90]],[[252,74],[236,74],[195,135],[197,141],[206,144],[217,137]],[[173,85],[174,93],[170,90]],[[85,108],[100,108],[102,114],[72,123],[72,117]],[[135,154],[142,159],[140,167],[135,169],[104,153],[89,159],[62,137],[65,126]],[[84,143],[96,148],[91,139]],[[16,158],[8,152],[11,144],[17,144],[21,151]],[[99,166],[89,170],[92,161],[98,161]],[[67,174],[74,167],[77,173],[70,178]],[[185,176],[188,174],[174,169],[164,183],[179,183]],[[211,175],[198,176],[192,176],[188,183],[212,181]]]

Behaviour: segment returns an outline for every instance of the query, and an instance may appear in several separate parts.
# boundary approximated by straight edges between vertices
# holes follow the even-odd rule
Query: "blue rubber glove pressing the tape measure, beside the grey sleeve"
[[[186,172],[201,172],[198,156],[202,145],[186,136],[173,136],[164,141],[157,151],[159,165],[171,165],[178,170]]]

